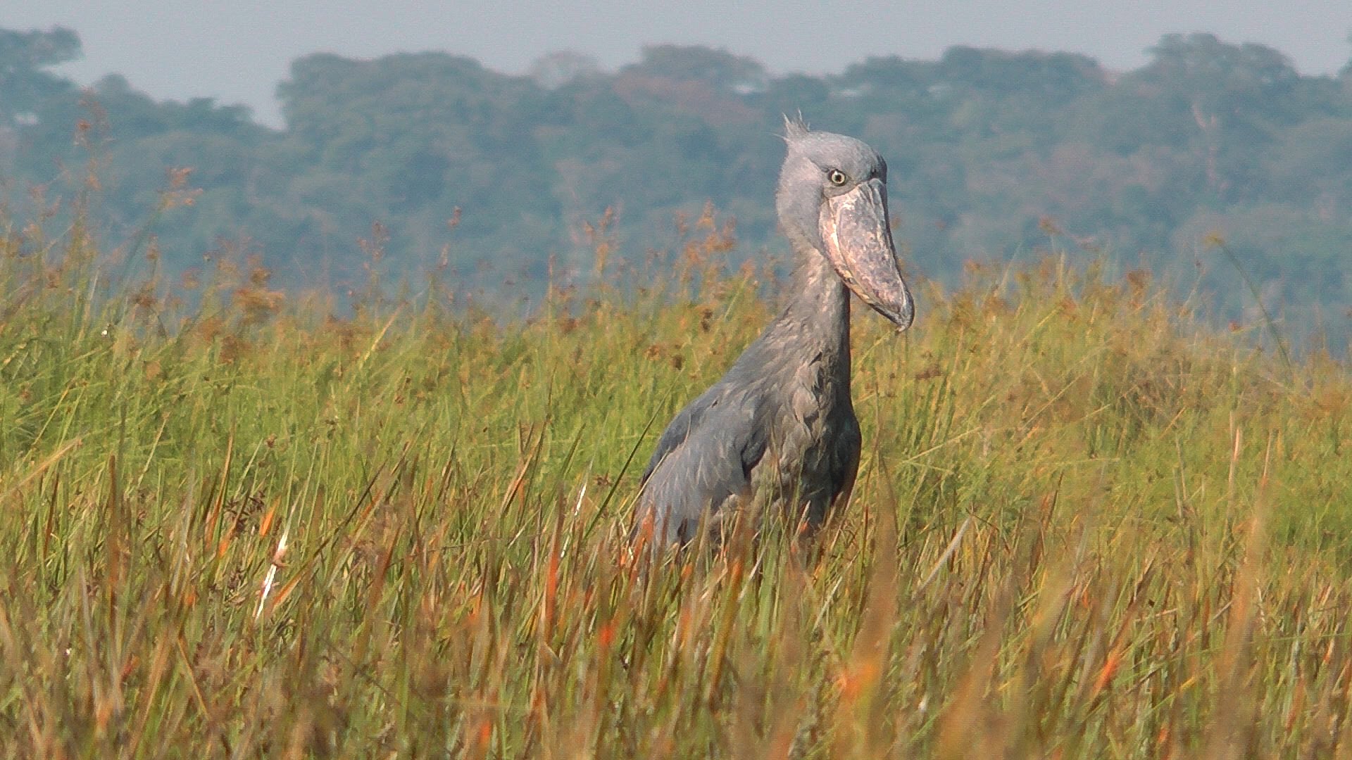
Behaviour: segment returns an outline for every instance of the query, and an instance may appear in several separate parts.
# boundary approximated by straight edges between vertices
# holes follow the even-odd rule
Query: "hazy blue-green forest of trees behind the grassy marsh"
[[[1207,34],[1167,35],[1130,72],[973,47],[823,77],[671,45],[615,72],[556,53],[526,76],[314,54],[277,88],[279,131],[53,73],[80,55],[70,30],[0,30],[0,191],[8,219],[59,216],[93,166],[95,226],[128,269],[154,250],[178,276],[231,249],[289,285],[342,288],[379,258],[395,280],[443,266],[529,292],[591,270],[607,208],[634,257],[677,245],[706,204],[735,219],[735,256],[781,256],[775,134],[802,112],[887,157],[898,241],[926,277],[1059,247],[1148,268],[1244,329],[1256,291],[1291,339],[1343,353],[1352,333],[1352,64],[1302,76]]]

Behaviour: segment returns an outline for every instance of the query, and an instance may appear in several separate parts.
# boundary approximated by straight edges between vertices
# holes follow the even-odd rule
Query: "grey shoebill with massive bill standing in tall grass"
[[[783,311],[667,426],[642,477],[635,531],[687,542],[757,494],[819,526],[849,496],[860,431],[850,402],[849,292],[906,329],[914,316],[887,215],[887,165],[863,142],[787,123],[776,192],[799,265]],[[646,527],[650,526],[650,527]]]

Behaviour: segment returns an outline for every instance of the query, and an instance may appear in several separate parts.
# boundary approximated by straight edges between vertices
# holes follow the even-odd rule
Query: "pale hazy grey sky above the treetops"
[[[412,50],[470,55],[525,72],[553,50],[614,68],[645,43],[726,47],[775,73],[840,72],[867,55],[934,58],[950,45],[1086,53],[1114,69],[1145,62],[1161,34],[1210,31],[1275,47],[1307,74],[1352,60],[1352,0],[0,0],[0,27],[80,32],[88,84],[122,73],[155,97],[246,103],[280,124],[273,92],[288,64],[315,51],[376,57]],[[1282,5],[1279,9],[1278,5]]]

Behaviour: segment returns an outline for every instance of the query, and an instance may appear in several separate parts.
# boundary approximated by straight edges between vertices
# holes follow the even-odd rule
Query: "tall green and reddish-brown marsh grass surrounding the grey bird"
[[[857,311],[814,550],[644,567],[656,434],[771,314],[685,241],[499,323],[231,262],[108,295],[78,215],[11,231],[3,755],[1352,757],[1345,365],[972,266]]]

